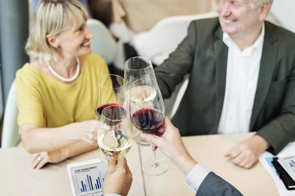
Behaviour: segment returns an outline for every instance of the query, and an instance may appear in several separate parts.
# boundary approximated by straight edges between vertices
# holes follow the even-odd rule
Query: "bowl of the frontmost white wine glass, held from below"
[[[133,144],[129,112],[121,105],[110,105],[102,110],[97,139],[101,152],[112,159],[124,157]]]

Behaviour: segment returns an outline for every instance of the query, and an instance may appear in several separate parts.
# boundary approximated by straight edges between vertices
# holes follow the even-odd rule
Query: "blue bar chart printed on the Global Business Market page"
[[[84,180],[81,180],[81,184],[79,185],[80,193],[102,188],[104,177],[101,176],[101,172],[99,171],[98,176],[93,177],[87,174],[85,178],[83,178]]]

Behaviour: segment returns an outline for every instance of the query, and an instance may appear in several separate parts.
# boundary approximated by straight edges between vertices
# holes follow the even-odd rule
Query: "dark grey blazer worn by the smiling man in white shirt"
[[[181,136],[217,133],[225,95],[228,47],[218,18],[193,21],[187,37],[155,69],[163,98],[185,74],[186,92],[172,123]],[[265,22],[265,38],[250,131],[277,154],[295,140],[295,34]]]

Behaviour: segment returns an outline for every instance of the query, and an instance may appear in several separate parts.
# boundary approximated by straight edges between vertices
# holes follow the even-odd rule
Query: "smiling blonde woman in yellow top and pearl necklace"
[[[26,51],[34,61],[15,78],[20,135],[34,153],[32,168],[98,147],[96,83],[109,71],[91,53],[87,19],[78,0],[39,0],[32,15]]]

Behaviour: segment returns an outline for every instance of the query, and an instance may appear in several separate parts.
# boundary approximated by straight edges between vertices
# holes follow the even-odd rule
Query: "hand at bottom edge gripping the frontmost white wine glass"
[[[127,196],[133,179],[126,159],[123,157],[117,162],[116,160],[106,157],[106,160],[108,161],[109,169],[105,174],[103,195],[118,194]]]

